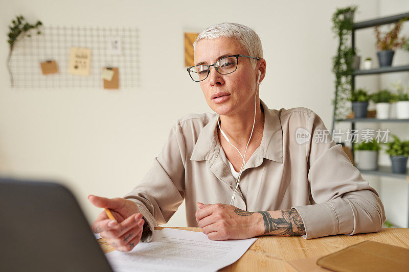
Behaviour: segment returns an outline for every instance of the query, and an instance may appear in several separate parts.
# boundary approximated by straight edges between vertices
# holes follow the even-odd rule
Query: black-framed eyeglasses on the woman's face
[[[208,78],[209,73],[210,73],[210,66],[213,66],[215,70],[221,75],[228,75],[229,73],[232,73],[237,69],[239,57],[260,60],[259,58],[256,58],[256,57],[237,54],[237,55],[232,55],[232,56],[228,56],[228,57],[219,59],[212,65],[200,64],[200,65],[189,67],[187,68],[187,71],[191,79],[196,82],[199,82],[199,81],[202,81]]]

